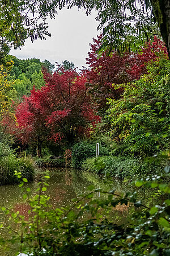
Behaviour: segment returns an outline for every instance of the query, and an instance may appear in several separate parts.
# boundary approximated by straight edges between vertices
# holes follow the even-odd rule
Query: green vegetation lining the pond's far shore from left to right
[[[162,174],[166,164],[165,160],[155,163],[154,158],[125,155],[122,147],[112,144],[107,137],[101,137],[100,156],[96,158],[96,141],[99,141],[99,138],[95,141],[75,143],[70,150],[69,159],[67,154],[58,157],[46,155],[44,158],[19,157],[14,154],[3,156],[0,159],[0,185],[19,183],[15,171],[21,172],[23,178],[32,181],[37,169],[48,167],[70,167],[106,177],[116,177],[120,180],[126,178],[135,180]]]

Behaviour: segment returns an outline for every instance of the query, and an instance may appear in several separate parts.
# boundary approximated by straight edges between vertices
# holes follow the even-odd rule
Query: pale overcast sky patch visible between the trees
[[[49,32],[52,36],[46,40],[36,40],[31,43],[27,39],[21,49],[12,49],[11,55],[19,59],[36,57],[41,61],[47,59],[50,62],[62,63],[63,60],[73,61],[75,67],[82,68],[86,65],[86,57],[90,51],[89,44],[100,34],[97,31],[95,20],[97,13],[86,14],[74,7],[71,10],[63,9],[58,12],[56,19],[48,19]]]

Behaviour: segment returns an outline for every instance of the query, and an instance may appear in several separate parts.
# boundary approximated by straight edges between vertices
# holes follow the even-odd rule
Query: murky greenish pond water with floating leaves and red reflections
[[[35,179],[32,183],[28,184],[31,188],[32,195],[35,195],[37,188],[38,179]],[[48,189],[45,192],[46,195],[50,196],[50,204],[54,208],[66,207],[72,203],[71,199],[75,198],[78,194],[86,193],[88,191],[88,185],[93,184],[95,188],[102,188],[103,190],[109,191],[110,189],[116,189],[116,192],[122,193],[127,191],[134,191],[134,187],[130,184],[124,183],[122,180],[112,180],[112,185],[109,185],[109,180],[104,180],[100,176],[95,174],[90,174],[86,172],[81,172],[78,170],[73,170],[69,168],[58,168],[50,170],[50,179],[48,179]],[[143,192],[145,194],[145,192]],[[23,199],[24,191],[19,188],[18,184],[15,185],[4,185],[0,187],[0,207],[12,208],[14,211],[19,211],[20,214],[25,216],[25,220],[28,219],[28,209],[27,200]],[[96,197],[101,197],[105,195],[100,195],[96,193]],[[143,195],[145,196],[145,195]],[[126,205],[118,205],[114,209],[114,213],[126,218],[128,212],[128,207]],[[11,225],[14,233],[17,232],[17,226],[9,220],[9,216],[1,213],[1,223],[2,228],[0,229],[0,234],[3,238],[8,239],[12,234],[8,233],[7,226]],[[0,251],[0,255],[15,255],[14,245],[12,248],[8,248],[9,251]]]

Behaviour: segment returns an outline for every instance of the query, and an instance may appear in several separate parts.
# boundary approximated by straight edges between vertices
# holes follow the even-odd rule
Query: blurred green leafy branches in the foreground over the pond
[[[16,176],[20,177],[20,173],[16,172]],[[1,208],[21,224],[19,234],[7,241],[2,239],[1,244],[5,247],[9,242],[19,242],[20,253],[32,255],[168,255],[170,189],[163,178],[154,175],[135,181],[138,188],[152,189],[151,200],[147,202],[139,200],[137,192],[116,193],[111,182],[110,191],[90,185],[88,194],[76,197],[72,207],[53,209],[48,203],[50,197],[45,195],[49,179],[45,174],[45,180],[39,179],[37,195],[33,198],[25,187],[23,199],[30,206],[29,220],[24,221],[19,212]],[[20,187],[27,181],[22,179]],[[95,196],[99,192],[105,197]],[[114,216],[116,208],[123,205],[126,216],[128,213],[126,222],[122,218],[115,220]]]

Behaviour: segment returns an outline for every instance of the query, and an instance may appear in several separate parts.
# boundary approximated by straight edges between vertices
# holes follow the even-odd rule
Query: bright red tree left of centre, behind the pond
[[[33,88],[16,109],[15,134],[22,143],[42,144],[52,139],[70,145],[90,123],[99,121],[86,93],[86,77],[66,71],[44,73],[44,79],[46,86]]]

